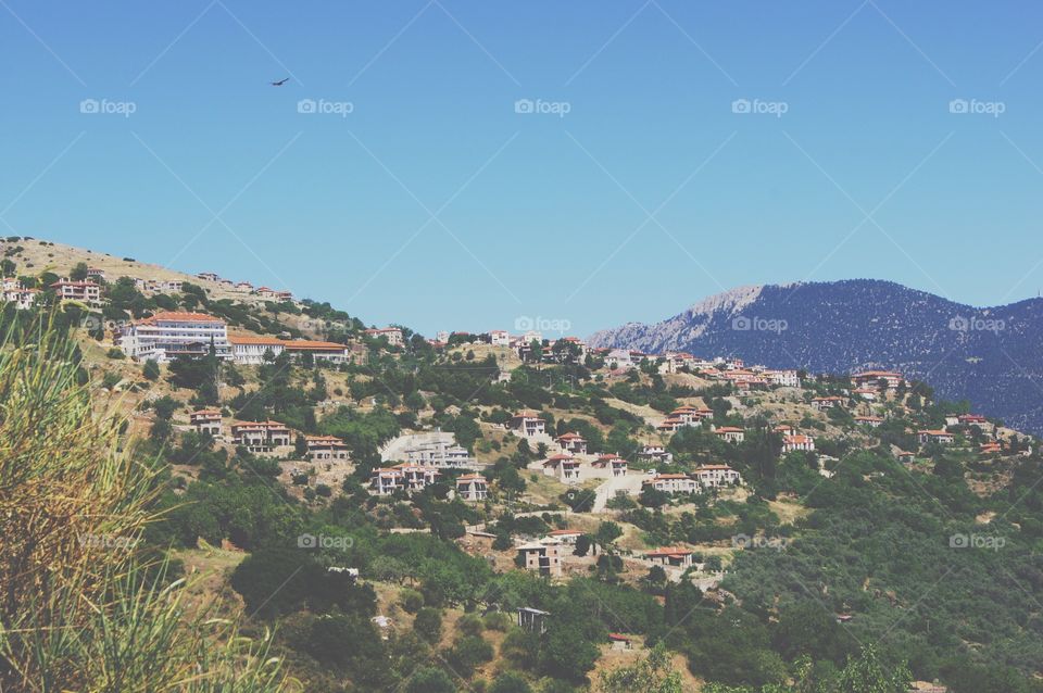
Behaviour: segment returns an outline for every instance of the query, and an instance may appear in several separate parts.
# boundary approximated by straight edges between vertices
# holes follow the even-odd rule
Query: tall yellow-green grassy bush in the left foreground
[[[189,605],[139,543],[159,469],[74,354],[53,326],[0,343],[0,691],[284,690],[268,641]]]

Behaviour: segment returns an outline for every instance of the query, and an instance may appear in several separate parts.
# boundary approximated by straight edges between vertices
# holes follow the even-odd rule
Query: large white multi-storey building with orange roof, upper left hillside
[[[218,358],[231,357],[225,322],[203,313],[163,311],[123,328],[120,348],[139,361],[202,356],[213,346]]]

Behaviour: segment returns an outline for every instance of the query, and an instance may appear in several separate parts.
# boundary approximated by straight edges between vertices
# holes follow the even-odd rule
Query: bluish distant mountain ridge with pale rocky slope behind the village
[[[1043,433],[1043,300],[978,308],[891,281],[740,287],[671,318],[595,332],[592,346],[733,354],[772,368],[894,368],[939,396]]]

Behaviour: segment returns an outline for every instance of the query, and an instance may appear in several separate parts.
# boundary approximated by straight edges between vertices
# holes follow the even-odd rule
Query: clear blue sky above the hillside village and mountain
[[[518,316],[586,335],[802,279],[1009,302],[1043,287],[1041,18],[1029,2],[0,0],[0,232],[428,335]]]

